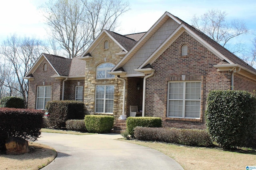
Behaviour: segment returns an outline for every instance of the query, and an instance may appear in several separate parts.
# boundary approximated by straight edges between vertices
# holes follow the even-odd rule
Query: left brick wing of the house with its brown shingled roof
[[[28,108],[45,109],[50,100],[84,100],[85,61],[42,53],[24,79]],[[63,88],[64,87],[64,88]]]

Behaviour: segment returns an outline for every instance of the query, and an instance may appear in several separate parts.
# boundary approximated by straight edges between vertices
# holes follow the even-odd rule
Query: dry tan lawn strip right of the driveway
[[[256,166],[256,150],[187,147],[168,143],[136,140],[122,141],[156,149],[178,162],[184,170],[245,170],[246,166]]]

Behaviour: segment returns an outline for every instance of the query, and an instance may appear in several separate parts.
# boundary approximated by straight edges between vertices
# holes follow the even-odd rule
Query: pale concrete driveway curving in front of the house
[[[183,170],[157,150],[113,139],[119,134],[69,135],[42,133],[38,143],[58,156],[42,170]]]

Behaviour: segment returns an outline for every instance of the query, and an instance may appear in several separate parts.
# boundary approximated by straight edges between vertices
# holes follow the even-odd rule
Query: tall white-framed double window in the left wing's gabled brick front
[[[47,102],[51,100],[52,86],[38,86],[37,87],[37,98],[36,98],[36,109],[45,109]]]

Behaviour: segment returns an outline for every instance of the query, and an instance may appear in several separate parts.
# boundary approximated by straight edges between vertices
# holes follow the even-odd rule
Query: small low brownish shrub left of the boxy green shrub
[[[70,131],[79,131],[79,132],[86,132],[86,127],[84,123],[84,119],[72,119],[66,121],[66,129]]]

